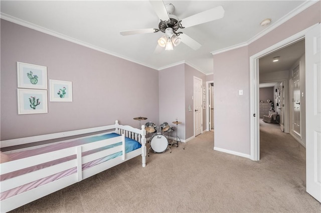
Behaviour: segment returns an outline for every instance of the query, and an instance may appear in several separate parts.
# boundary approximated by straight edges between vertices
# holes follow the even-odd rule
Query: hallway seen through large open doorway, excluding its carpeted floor
[[[259,116],[305,147],[304,55],[303,38],[259,58]]]

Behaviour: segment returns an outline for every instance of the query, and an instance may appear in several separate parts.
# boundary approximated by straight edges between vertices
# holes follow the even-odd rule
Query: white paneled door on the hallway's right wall
[[[301,110],[300,110],[300,69],[297,65],[292,70],[292,131],[301,135]]]

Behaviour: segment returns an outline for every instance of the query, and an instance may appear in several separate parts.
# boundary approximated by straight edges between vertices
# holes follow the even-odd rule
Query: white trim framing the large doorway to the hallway
[[[252,160],[260,160],[260,124],[259,116],[256,116],[259,112],[259,58],[303,39],[305,33],[315,25],[316,24],[250,56],[250,157]]]

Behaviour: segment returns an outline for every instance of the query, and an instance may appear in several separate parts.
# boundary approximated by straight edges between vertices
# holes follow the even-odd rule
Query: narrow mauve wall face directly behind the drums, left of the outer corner
[[[182,122],[178,125],[178,136],[183,140],[186,138],[185,127],[190,125],[186,123],[184,109],[184,64],[159,70],[159,122],[168,122],[169,125],[176,126],[173,121],[177,118]],[[175,136],[176,132],[172,132],[171,135]]]

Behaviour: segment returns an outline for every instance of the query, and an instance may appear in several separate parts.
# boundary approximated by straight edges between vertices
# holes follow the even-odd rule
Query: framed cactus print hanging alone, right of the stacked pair
[[[49,80],[50,101],[72,102],[72,82],[64,80]]]

